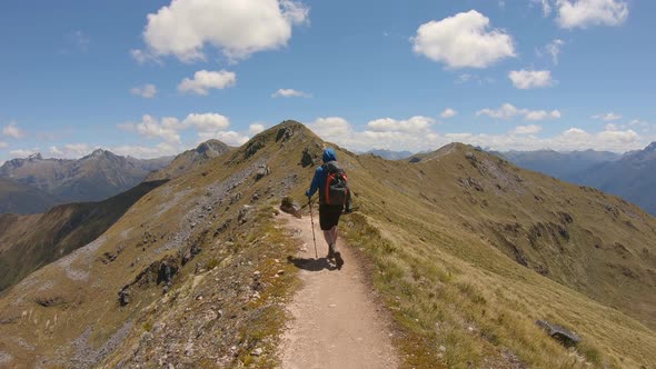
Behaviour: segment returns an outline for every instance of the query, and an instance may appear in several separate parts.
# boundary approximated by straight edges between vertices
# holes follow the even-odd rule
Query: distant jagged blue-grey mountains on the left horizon
[[[100,201],[141,182],[169,159],[139,160],[98,149],[78,160],[43,159],[33,154],[0,167],[0,177],[29,184],[62,202]]]

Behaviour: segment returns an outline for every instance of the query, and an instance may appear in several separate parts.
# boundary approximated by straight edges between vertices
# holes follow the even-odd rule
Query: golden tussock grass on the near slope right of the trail
[[[449,178],[466,176],[459,173],[467,167],[457,158],[439,160],[450,160],[443,163],[447,167],[444,170],[457,173],[449,173]],[[421,171],[419,176],[428,177],[430,170],[440,170],[435,162],[433,169],[426,163],[420,170],[408,171],[402,162],[359,157],[351,166],[351,186],[358,192],[356,201],[360,212],[349,216],[341,229],[349,243],[372,265],[374,286],[400,327],[397,342],[405,367],[640,368],[656,365],[653,330],[573,289],[570,286],[578,285],[571,280],[560,276],[548,279],[520,266],[511,253],[496,245],[491,233],[473,226],[481,219],[511,219],[507,209],[494,210],[498,215],[493,218],[493,210],[476,210],[477,207],[481,209],[480,200],[473,207],[461,202],[464,197],[451,198],[461,190],[449,187],[453,184],[445,179],[446,172],[440,174],[436,186],[439,190],[414,179],[415,172]],[[397,186],[385,183],[380,174],[386,172],[402,172],[402,181]],[[418,196],[419,191],[424,196]],[[580,195],[567,196],[577,199]],[[488,208],[499,206],[493,198],[487,201]],[[510,203],[504,206],[511,207]],[[517,206],[523,209],[521,205]],[[556,206],[554,209],[568,208]],[[531,217],[539,219],[540,213]],[[585,220],[575,217],[579,222]],[[596,221],[608,225],[608,219],[603,217]],[[588,242],[578,232],[570,228],[570,238]],[[558,253],[554,256],[561,258]],[[578,269],[564,278],[580,278]],[[584,290],[579,287],[577,289]],[[608,287],[612,293],[617,292],[616,287]],[[575,349],[567,349],[540,330],[535,323],[537,319],[569,327],[584,341]]]

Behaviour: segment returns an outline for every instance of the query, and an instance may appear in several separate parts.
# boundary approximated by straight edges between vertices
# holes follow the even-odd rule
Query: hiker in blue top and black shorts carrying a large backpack
[[[344,262],[336,250],[337,225],[347,199],[350,198],[346,172],[337,162],[337,154],[332,148],[324,150],[324,164],[315,171],[310,189],[306,192],[308,201],[319,190],[319,225],[324,231],[324,238],[328,243],[328,259]],[[328,184],[330,181],[330,184]],[[349,201],[350,202],[350,201]],[[350,209],[349,209],[350,210]]]

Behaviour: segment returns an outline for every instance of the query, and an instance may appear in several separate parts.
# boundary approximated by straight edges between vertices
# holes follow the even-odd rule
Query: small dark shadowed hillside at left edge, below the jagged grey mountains
[[[57,199],[37,188],[0,178],[0,213],[36,213],[50,209]]]

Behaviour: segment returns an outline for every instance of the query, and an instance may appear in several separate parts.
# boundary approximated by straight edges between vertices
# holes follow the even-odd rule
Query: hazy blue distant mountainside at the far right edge
[[[573,174],[568,180],[617,195],[656,215],[656,142]]]

